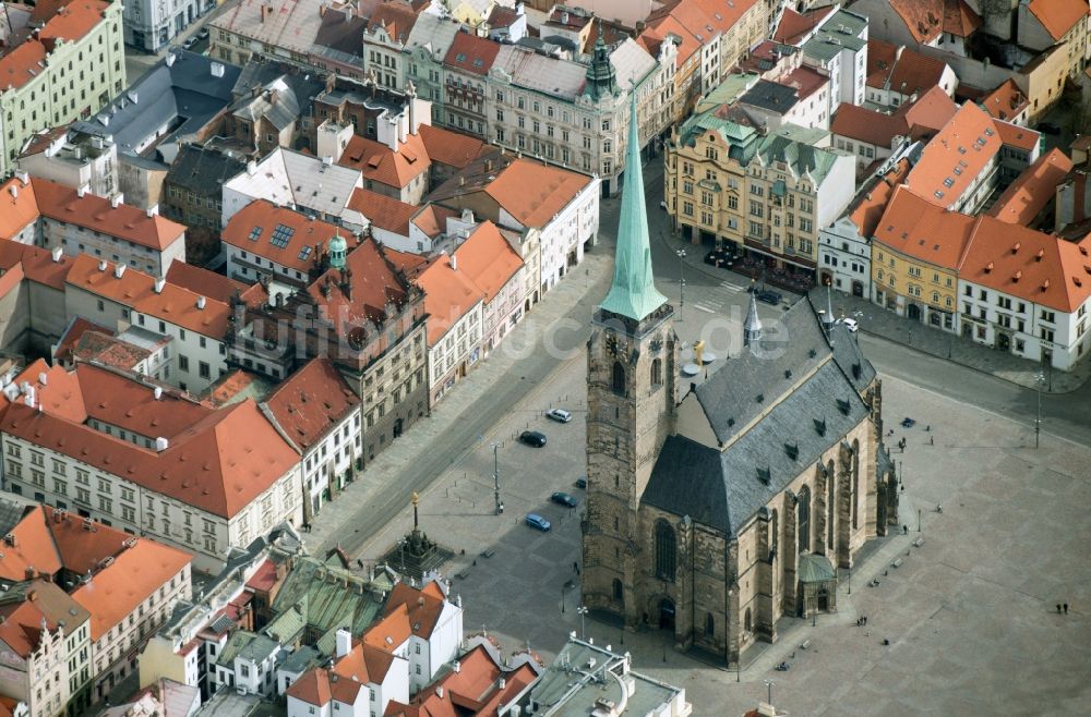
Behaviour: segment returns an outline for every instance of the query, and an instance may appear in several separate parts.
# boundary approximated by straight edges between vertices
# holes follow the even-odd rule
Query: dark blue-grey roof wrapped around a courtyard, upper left
[[[188,50],[172,50],[172,56],[170,65],[160,61],[92,119],[75,122],[73,129],[112,136],[119,154],[134,154],[165,124],[173,130],[160,144],[206,125],[231,101],[231,87],[240,69]],[[214,64],[223,68],[221,77],[213,75]]]

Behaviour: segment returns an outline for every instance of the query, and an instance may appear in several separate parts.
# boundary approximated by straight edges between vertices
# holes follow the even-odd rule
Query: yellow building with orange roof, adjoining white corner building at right
[[[872,300],[955,331],[958,266],[975,221],[897,187],[872,240]]]

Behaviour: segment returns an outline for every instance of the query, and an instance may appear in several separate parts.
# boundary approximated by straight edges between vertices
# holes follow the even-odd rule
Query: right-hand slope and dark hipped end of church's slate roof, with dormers
[[[731,373],[730,367],[718,373]],[[847,414],[838,401],[848,403]],[[684,436],[669,437],[642,502],[734,536],[759,508],[867,416],[867,406],[841,369],[826,361],[722,452]],[[815,421],[824,422],[824,435]],[[788,443],[798,451],[794,459]],[[759,470],[767,472],[768,483]]]

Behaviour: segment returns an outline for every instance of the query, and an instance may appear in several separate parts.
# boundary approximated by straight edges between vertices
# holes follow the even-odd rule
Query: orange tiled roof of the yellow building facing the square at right
[[[973,226],[973,217],[948,211],[901,185],[895,189],[874,238],[903,256],[956,269]]]

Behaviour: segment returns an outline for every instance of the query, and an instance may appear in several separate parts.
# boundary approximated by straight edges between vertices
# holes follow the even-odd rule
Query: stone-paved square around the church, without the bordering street
[[[449,574],[464,574],[454,591],[465,599],[467,631],[485,629],[507,649],[529,643],[547,658],[570,630],[580,630],[578,591],[565,584],[578,580],[582,508],[553,506],[548,497],[568,490],[584,498],[573,488],[584,461],[583,375],[574,360],[517,406],[516,416],[562,402],[575,413],[564,426],[529,421],[549,436],[544,449],[513,443],[502,423],[421,500],[422,527],[456,554],[465,550]],[[908,440],[895,458],[904,475],[901,518],[909,534],[873,543],[853,571],[851,595],[842,574],[837,615],[822,616],[817,627],[786,620],[778,643],[747,653],[739,676],[675,653],[664,633],[622,634],[587,620],[588,636],[615,647],[624,640],[637,669],[686,688],[697,715],[742,714],[766,694],[766,679],[791,715],[1078,714],[1091,704],[1081,667],[1091,660],[1083,547],[1091,534],[1083,509],[1091,501],[1084,469],[1091,452],[1048,435],[1034,450],[1021,424],[898,379],[887,378],[884,389],[889,425],[904,415],[918,421],[895,433]],[[493,441],[501,443],[503,517],[492,514]],[[524,525],[528,511],[544,514],[554,530]],[[375,560],[410,526],[407,507],[361,557]],[[868,586],[872,579],[878,585]],[[1058,616],[1054,606],[1065,601],[1069,615]],[[855,627],[861,616],[866,628]],[[781,660],[789,671],[774,670]]]

